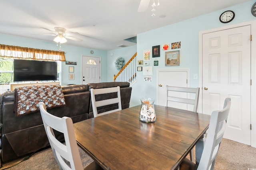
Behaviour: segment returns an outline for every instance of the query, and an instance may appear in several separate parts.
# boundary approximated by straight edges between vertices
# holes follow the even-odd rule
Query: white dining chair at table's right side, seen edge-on
[[[185,158],[180,164],[180,170],[213,170],[220,143],[226,128],[226,121],[231,106],[231,99],[226,98],[224,109],[212,112],[210,125],[199,164]]]

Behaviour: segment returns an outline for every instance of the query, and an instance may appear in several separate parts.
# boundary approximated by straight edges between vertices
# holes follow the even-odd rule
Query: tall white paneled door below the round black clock
[[[250,145],[250,25],[202,35],[202,113],[231,98],[224,137]]]

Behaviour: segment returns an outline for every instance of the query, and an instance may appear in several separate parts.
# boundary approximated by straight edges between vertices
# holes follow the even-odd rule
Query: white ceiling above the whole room
[[[53,42],[54,36],[42,35],[52,32],[41,27],[64,27],[82,34],[75,36],[82,42],[67,39],[68,45],[112,50],[135,45],[124,39],[139,33],[248,1],[159,0],[153,17],[153,0],[141,13],[140,0],[1,0],[0,33]]]

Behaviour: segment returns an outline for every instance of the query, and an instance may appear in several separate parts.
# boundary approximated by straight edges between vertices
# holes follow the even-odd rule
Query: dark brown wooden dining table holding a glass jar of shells
[[[174,170],[209,126],[210,115],[154,105],[156,121],[134,106],[74,123],[78,145],[106,170]]]

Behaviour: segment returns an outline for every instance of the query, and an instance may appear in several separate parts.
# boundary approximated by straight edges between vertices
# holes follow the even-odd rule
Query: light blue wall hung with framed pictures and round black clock
[[[206,15],[202,15],[189,20],[174,23],[165,27],[140,33],[137,35],[137,53],[138,60],[143,59],[143,51],[151,49],[152,46],[162,45],[166,43],[174,43],[181,41],[180,49],[170,49],[166,51],[180,50],[180,66],[165,66],[165,52],[160,51],[160,57],[151,58],[149,66],[153,66],[152,82],[143,82],[144,76],[142,72],[137,72],[138,82],[132,86],[132,97],[130,100],[130,106],[136,106],[139,103],[140,98],[154,98],[156,99],[156,90],[158,84],[156,84],[156,70],[157,69],[174,69],[174,68],[189,68],[190,69],[190,87],[197,87],[199,85],[198,80],[193,79],[193,74],[199,75],[198,64],[198,49],[199,49],[199,31],[212,29],[216,27],[223,27],[225,25],[231,25],[235,23],[241,23],[245,21],[255,20],[256,18],[251,14],[251,8],[254,1],[246,2],[237,6],[232,6],[212,12]],[[230,23],[221,23],[219,21],[220,14],[226,10],[232,10],[235,12],[235,18]],[[172,20],[172,16],[169,20]],[[120,50],[120,49],[119,49]],[[125,50],[125,49],[124,49]],[[118,51],[122,53],[122,51]],[[115,53],[115,51],[112,51]],[[109,56],[108,56],[109,59]],[[154,59],[158,59],[159,65],[154,66]],[[145,65],[143,65],[145,66]],[[110,76],[110,75],[108,75]]]

